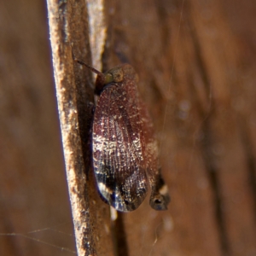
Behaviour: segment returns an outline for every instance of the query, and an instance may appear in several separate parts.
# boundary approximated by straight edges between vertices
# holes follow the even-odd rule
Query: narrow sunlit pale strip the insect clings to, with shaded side
[[[48,12],[77,251],[79,255],[113,255],[109,208],[96,193],[90,167],[91,76],[74,63],[72,56],[73,50],[74,55],[90,63],[87,9],[84,1],[48,0]]]

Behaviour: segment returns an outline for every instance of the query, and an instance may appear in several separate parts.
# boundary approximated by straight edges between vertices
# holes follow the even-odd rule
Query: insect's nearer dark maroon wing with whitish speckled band
[[[148,177],[142,119],[134,81],[108,84],[97,102],[93,123],[93,163],[103,199],[121,212],[143,202]]]

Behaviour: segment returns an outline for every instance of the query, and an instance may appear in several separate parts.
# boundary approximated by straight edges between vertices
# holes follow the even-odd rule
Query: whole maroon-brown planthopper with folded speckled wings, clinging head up
[[[151,188],[150,206],[166,210],[170,196],[160,173],[153,125],[138,96],[137,73],[129,64],[101,73],[75,61],[97,74],[92,159],[102,200],[120,212],[131,212]]]

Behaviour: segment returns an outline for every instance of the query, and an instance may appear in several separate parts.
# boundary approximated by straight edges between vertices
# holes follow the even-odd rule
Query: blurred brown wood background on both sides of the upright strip
[[[256,255],[255,1],[104,4],[172,195],[125,215],[129,255]],[[0,2],[0,255],[75,253],[57,113],[46,3]]]

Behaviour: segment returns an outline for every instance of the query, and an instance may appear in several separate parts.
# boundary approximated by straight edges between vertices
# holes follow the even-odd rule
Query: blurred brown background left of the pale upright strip
[[[0,255],[71,255],[46,2],[1,1],[0,27]]]

